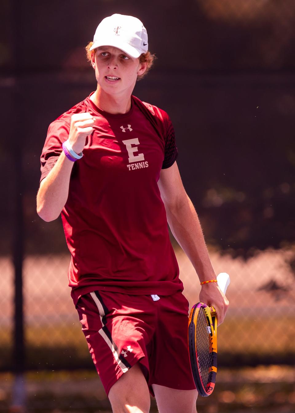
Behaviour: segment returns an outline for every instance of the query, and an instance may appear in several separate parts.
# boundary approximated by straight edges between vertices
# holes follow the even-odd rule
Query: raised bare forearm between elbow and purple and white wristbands
[[[53,221],[68,199],[73,162],[61,152],[50,173],[41,181],[37,194],[37,213],[44,221]]]

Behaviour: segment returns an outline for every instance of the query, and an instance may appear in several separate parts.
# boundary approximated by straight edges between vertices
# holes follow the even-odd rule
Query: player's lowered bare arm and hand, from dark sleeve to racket
[[[184,190],[176,162],[162,169],[158,186],[172,234],[189,257],[200,282],[216,279],[198,215]],[[229,303],[217,283],[202,285],[200,300],[216,308],[218,322],[222,323]]]

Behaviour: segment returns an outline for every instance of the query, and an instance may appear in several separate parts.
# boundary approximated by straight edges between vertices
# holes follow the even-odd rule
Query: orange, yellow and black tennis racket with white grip
[[[225,294],[230,283],[229,275],[220,273],[217,283]],[[189,316],[189,358],[198,393],[209,396],[217,373],[217,317],[215,309],[204,303],[195,304]]]

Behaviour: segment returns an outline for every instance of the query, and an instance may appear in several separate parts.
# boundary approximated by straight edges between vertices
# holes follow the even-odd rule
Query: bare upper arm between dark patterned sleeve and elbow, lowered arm
[[[186,192],[176,161],[170,168],[161,170],[158,187],[165,207],[176,207],[186,199]]]

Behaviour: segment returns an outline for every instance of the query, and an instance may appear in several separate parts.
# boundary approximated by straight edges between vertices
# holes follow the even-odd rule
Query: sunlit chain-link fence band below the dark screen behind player
[[[176,250],[184,294],[191,306],[200,290],[194,268]],[[210,252],[217,273],[231,275],[226,321],[219,328],[219,363],[225,366],[287,363],[294,358],[293,273],[288,262],[294,251],[257,252],[248,261]],[[24,260],[26,368],[74,369],[92,367],[87,344],[67,284],[69,256],[28,256]],[[1,260],[1,369],[11,367],[13,268]],[[6,271],[5,271],[6,268]],[[42,276],[41,276],[42,275]]]

